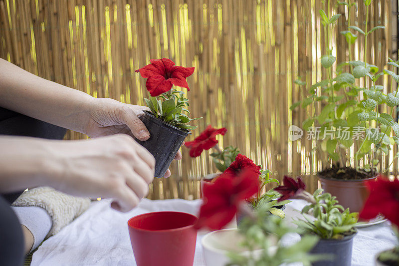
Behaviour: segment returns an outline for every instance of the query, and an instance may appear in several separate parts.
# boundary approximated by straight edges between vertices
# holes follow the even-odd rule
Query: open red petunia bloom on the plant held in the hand
[[[194,67],[175,66],[175,62],[168,58],[150,60],[136,72],[147,78],[146,87],[150,95],[155,97],[172,88],[172,84],[190,90],[186,78],[194,73]]]

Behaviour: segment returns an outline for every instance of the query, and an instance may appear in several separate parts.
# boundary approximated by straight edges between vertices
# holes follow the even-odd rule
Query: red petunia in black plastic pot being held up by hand
[[[137,140],[154,157],[155,177],[163,177],[183,144],[184,139],[197,126],[188,125],[193,120],[187,109],[189,99],[185,93],[173,87],[179,86],[190,91],[186,78],[193,74],[194,67],[175,66],[167,58],[150,60],[150,64],[136,70],[147,78],[149,98],[145,102],[151,111],[144,111],[143,123],[150,132],[146,141]]]

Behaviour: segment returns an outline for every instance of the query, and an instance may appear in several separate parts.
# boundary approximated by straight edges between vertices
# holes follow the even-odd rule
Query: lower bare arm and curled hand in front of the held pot
[[[112,208],[127,212],[154,179],[154,157],[126,134],[76,141],[0,137],[0,146],[0,192],[50,186],[112,198]]]

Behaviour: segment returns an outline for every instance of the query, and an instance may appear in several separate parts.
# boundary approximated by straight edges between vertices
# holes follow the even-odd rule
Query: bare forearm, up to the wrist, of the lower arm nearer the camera
[[[45,185],[51,174],[59,174],[54,161],[48,159],[51,142],[54,141],[0,136],[0,193]]]

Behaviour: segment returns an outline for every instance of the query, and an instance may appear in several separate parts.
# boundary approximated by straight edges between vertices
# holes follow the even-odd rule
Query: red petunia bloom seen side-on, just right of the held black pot
[[[195,138],[193,141],[186,142],[185,146],[190,148],[190,156],[198,157],[201,155],[203,150],[209,150],[217,144],[216,135],[224,135],[227,129],[213,128],[211,125],[207,126],[204,131],[201,132],[200,136]]]

